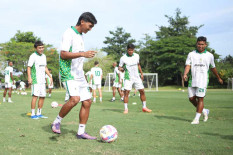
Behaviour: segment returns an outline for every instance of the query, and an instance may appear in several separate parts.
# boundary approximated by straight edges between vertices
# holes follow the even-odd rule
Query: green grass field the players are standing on
[[[80,104],[62,120],[62,134],[50,126],[63,103],[64,92],[54,91],[46,98],[42,113],[48,119],[32,120],[31,96],[13,94],[14,103],[0,104],[0,154],[233,154],[233,92],[208,90],[205,107],[209,120],[191,125],[195,109],[187,92],[147,92],[147,105],[152,113],[143,113],[139,97],[130,97],[129,113],[123,114],[123,103],[109,102],[111,93],[103,93],[103,103],[93,103],[86,131],[99,137],[103,125],[113,125],[118,139],[113,143],[78,140]],[[117,96],[118,97],[118,96]],[[119,97],[118,97],[119,99]],[[1,98],[2,100],[2,98]],[[137,105],[132,105],[137,102]]]

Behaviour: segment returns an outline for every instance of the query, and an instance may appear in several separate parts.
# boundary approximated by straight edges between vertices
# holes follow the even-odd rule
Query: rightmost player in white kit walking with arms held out
[[[206,50],[206,37],[197,38],[197,49],[188,54],[183,78],[187,81],[191,69],[188,82],[189,101],[196,107],[196,116],[191,124],[199,124],[201,113],[204,115],[204,122],[208,120],[209,110],[204,108],[204,97],[209,82],[209,67],[214,75],[218,78],[219,83],[223,84],[219,77],[214,63],[214,56]]]

